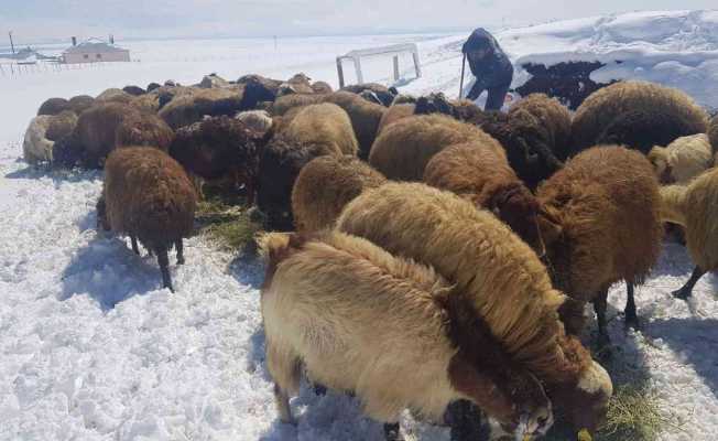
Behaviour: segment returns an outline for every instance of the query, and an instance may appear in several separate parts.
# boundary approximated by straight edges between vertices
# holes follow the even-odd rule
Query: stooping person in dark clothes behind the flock
[[[483,28],[471,33],[461,52],[469,61],[476,83],[466,98],[475,100],[488,90],[486,110],[499,110],[513,79],[513,65],[499,43]]]

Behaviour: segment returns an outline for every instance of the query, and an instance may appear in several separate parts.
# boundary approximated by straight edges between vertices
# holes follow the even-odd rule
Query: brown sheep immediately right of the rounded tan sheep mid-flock
[[[369,158],[369,151],[379,130],[379,122],[387,108],[368,103],[360,96],[348,92],[329,94],[324,101],[336,104],[349,115],[353,131],[357,135],[357,141],[359,141],[359,158],[363,160]]]

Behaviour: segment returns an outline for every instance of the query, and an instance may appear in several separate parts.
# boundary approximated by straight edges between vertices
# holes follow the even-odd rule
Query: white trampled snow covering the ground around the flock
[[[685,29],[674,35],[660,26]],[[689,92],[709,105],[718,90],[718,68],[707,65],[718,58],[717,26],[716,13],[644,13],[507,30],[499,40],[513,60],[651,47],[662,54],[653,67],[637,55],[633,71],[621,75],[656,79],[660,71],[659,79],[681,85],[692,69]],[[455,95],[463,37],[280,40],[276,50],[271,40],[143,42],[128,44],[140,62],[0,78],[0,440],[381,440],[381,426],[362,418],[355,399],[308,389],[292,402],[298,427],[278,422],[264,365],[259,263],[195,237],[185,247],[187,265],[172,267],[177,292],[160,289],[154,259],[95,230],[101,174],[33,170],[19,159],[19,141],[51,96],[167,78],[192,84],[210,72],[229,79],[306,72],[336,85],[337,54],[398,42],[417,42],[424,65],[424,77],[404,90]],[[387,78],[390,69],[390,63],[387,72],[377,67],[368,79]],[[670,292],[690,270],[685,249],[667,244],[637,294],[641,332],[625,333],[617,318],[624,287],[609,299],[613,363],[649,378],[673,421],[661,440],[708,441],[718,433],[718,279],[706,276],[689,302],[674,300]],[[403,423],[416,439],[448,440],[444,428],[409,416]]]

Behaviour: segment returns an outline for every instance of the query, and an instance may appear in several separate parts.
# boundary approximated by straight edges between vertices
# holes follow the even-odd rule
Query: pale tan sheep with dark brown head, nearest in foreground
[[[405,408],[439,418],[464,398],[518,439],[553,423],[541,383],[431,267],[337,232],[273,234],[263,247],[266,364],[282,421],[295,422],[289,398],[303,366],[313,380],[356,394],[369,417],[388,422],[387,440],[403,439]]]

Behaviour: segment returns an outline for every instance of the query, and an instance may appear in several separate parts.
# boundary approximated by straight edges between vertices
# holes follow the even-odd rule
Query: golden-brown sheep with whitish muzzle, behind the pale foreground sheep
[[[432,266],[455,286],[458,330],[486,323],[509,359],[535,375],[555,408],[577,429],[594,431],[612,394],[606,370],[564,332],[556,291],[536,254],[487,211],[417,183],[388,183],[353,200],[337,230]],[[467,359],[481,359],[466,340]]]

